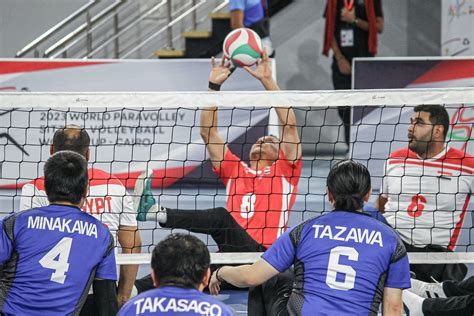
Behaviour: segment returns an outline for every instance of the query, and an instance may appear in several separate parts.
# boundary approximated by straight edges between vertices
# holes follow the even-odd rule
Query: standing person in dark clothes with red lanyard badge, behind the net
[[[328,0],[324,13],[323,54],[333,51],[332,82],[334,89],[351,89],[352,59],[377,54],[377,33],[384,28],[381,0]],[[351,110],[339,107],[344,124],[346,144],[349,145]]]

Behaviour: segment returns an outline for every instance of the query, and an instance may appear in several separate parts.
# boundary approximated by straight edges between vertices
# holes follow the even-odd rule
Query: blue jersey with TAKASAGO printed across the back
[[[163,286],[143,292],[125,304],[119,316],[129,315],[231,316],[221,301],[196,289]]]

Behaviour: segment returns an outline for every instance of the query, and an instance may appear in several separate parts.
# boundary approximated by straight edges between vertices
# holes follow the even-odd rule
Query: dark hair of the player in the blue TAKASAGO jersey
[[[156,245],[151,268],[160,286],[197,288],[211,265],[206,245],[186,234],[171,234]]]

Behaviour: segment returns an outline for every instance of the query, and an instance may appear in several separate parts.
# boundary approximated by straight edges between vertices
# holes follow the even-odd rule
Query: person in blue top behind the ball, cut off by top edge
[[[230,0],[229,9],[231,28],[246,27],[257,32],[262,39],[263,48],[267,49],[268,56],[274,57],[267,0]]]

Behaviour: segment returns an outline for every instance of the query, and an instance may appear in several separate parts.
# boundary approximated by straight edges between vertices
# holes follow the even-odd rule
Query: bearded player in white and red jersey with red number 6
[[[474,189],[474,158],[446,145],[449,114],[441,105],[414,108],[408,147],[386,162],[376,207],[409,252],[452,251]],[[420,280],[462,280],[466,267],[412,265]]]

